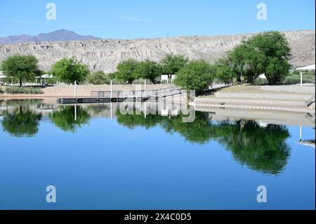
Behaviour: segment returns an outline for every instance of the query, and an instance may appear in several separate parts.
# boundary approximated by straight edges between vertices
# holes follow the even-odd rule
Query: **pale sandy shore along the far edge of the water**
[[[171,85],[147,85],[146,89],[157,90],[169,88]],[[114,85],[114,91],[129,91],[136,88],[144,89],[144,85]],[[4,90],[4,86],[1,86]],[[42,89],[43,94],[0,94],[0,100],[8,99],[49,99],[53,102],[56,98],[73,98],[74,86],[58,85]],[[91,91],[110,91],[110,85],[81,85],[77,86],[77,97],[87,98]],[[230,86],[217,91],[214,95],[204,95],[195,98],[190,103],[195,107],[218,107],[246,110],[279,110],[291,112],[310,112],[315,114],[315,103],[306,106],[306,100],[315,95],[314,86]]]

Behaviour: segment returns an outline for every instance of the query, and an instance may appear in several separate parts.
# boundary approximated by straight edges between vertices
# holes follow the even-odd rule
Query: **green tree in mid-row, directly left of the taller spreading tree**
[[[145,60],[138,62],[134,74],[136,79],[149,79],[155,84],[157,78],[162,74],[162,67],[157,62]]]

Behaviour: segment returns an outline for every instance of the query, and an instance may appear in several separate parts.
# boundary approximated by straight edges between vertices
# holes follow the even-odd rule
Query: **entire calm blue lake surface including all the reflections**
[[[212,115],[2,102],[0,209],[315,209],[315,147],[299,126]],[[302,133],[315,143],[312,125]]]

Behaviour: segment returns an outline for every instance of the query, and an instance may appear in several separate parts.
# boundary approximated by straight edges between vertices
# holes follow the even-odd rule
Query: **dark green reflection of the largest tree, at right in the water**
[[[255,121],[223,122],[213,126],[214,139],[232,151],[234,158],[256,171],[280,173],[290,154],[285,126],[259,126]]]

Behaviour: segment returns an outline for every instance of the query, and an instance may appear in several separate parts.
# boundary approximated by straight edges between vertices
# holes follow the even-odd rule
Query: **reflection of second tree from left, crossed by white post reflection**
[[[59,107],[58,110],[49,115],[49,118],[55,126],[58,126],[63,131],[75,132],[82,124],[87,124],[90,119],[90,114],[86,109],[80,106],[76,107],[76,109],[75,106]]]

